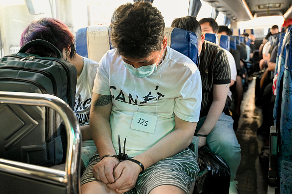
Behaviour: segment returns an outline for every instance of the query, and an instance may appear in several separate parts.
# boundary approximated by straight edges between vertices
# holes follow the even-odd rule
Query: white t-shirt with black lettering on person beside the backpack
[[[98,63],[83,57],[83,69],[77,79],[74,114],[80,125],[89,124],[89,112],[92,100],[92,88]]]

